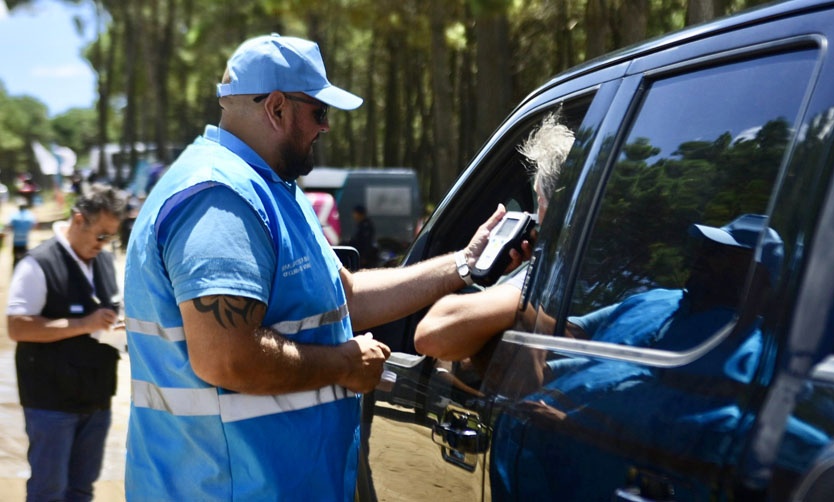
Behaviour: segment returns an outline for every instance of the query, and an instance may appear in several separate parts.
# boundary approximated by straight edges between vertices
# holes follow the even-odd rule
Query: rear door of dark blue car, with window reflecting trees
[[[786,425],[789,406],[778,428],[760,412],[800,395],[780,358],[830,180],[832,97],[816,91],[831,22],[751,25],[633,62],[622,120],[597,137],[611,153],[551,202],[518,329],[481,387],[498,396],[493,499],[747,500],[778,472],[781,500],[828,444],[818,423]],[[750,245],[715,248],[745,215],[762,222]],[[705,264],[710,246],[723,261]],[[751,452],[768,441],[782,453]]]

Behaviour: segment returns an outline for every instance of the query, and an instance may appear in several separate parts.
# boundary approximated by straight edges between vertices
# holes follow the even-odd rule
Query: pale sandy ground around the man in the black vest
[[[0,223],[8,222],[14,207],[10,203],[0,210]],[[35,208],[39,221],[60,219],[60,208],[47,202]],[[51,230],[32,232],[30,245],[34,246],[51,236]],[[116,255],[119,265],[123,256]],[[12,273],[11,242],[7,236],[0,247],[0,499],[15,502],[26,499],[26,480],[29,463],[26,461],[28,441],[23,426],[23,410],[17,396],[17,378],[14,367],[15,343],[9,340],[6,327],[6,297]],[[119,388],[113,399],[113,424],[105,445],[104,467],[95,485],[97,502],[125,500],[124,458],[127,437],[127,419],[130,410],[130,368],[127,357],[119,362]]]

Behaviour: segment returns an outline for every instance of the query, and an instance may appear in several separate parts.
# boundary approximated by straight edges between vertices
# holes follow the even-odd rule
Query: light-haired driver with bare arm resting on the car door
[[[550,196],[558,188],[562,164],[573,140],[573,132],[559,122],[559,114],[550,113],[518,148],[533,174],[539,222],[547,211]],[[529,259],[530,243],[525,241],[522,250]],[[522,259],[515,250],[511,253],[514,260]],[[447,295],[437,301],[417,325],[417,352],[459,361],[476,354],[493,336],[511,328],[527,271],[525,265],[492,287],[476,293]]]

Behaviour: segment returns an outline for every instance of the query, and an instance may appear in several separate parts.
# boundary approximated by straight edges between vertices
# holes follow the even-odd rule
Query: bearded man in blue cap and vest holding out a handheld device
[[[230,58],[208,126],[150,193],[127,252],[129,500],[351,500],[359,394],[390,350],[353,332],[471,283],[467,247],[400,269],[341,266],[296,184],[329,130],[318,46],[265,35]],[[517,263],[515,264],[517,265]]]

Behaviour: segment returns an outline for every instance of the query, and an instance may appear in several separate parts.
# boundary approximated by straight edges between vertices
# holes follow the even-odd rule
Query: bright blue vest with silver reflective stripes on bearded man
[[[160,242],[162,221],[188,211],[205,188],[230,188],[254,209],[240,215],[272,240],[276,267],[264,325],[301,343],[352,336],[339,263],[302,191],[231,134],[206,129],[154,187],[128,247],[125,309],[132,399],[125,491],[129,500],[350,500],[359,401],[328,386],[252,396],[213,387],[192,370]],[[259,218],[255,218],[257,214]],[[205,255],[212,247],[206,243]],[[231,245],[231,244],[227,244]],[[267,267],[264,267],[267,268]],[[186,277],[195,296],[236,294],[212,277]],[[193,284],[192,284],[193,280]]]

